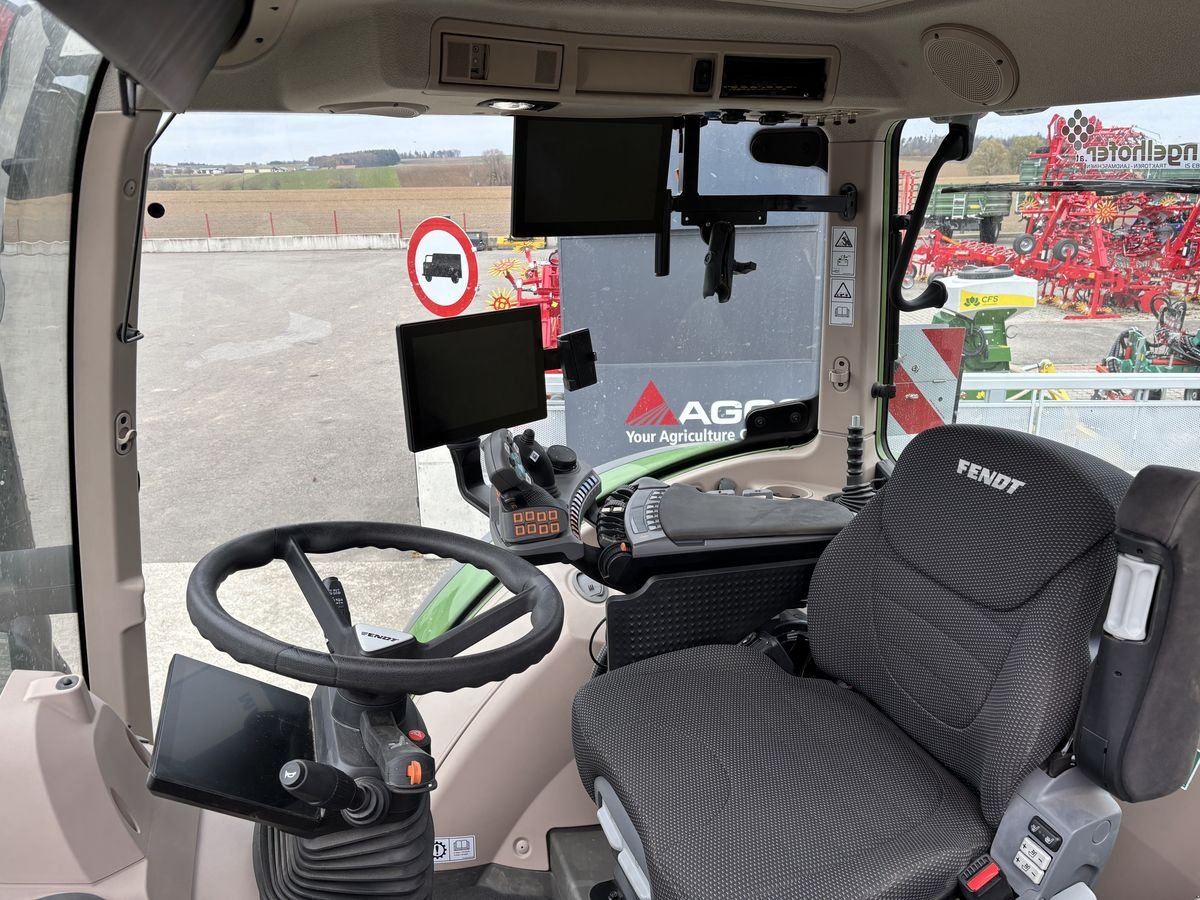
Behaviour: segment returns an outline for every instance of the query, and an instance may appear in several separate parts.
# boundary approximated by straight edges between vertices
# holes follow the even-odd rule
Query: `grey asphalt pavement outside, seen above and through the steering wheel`
[[[480,254],[482,312],[499,286]],[[419,522],[396,325],[430,318],[403,253],[156,253],[142,260],[138,468],[155,702],[172,653],[228,665],[191,626],[187,575],[277,524]],[[402,628],[449,569],[376,550],[314,560],[360,623]],[[282,566],[222,592],[234,614],[307,647],[320,635]],[[248,671],[248,670],[246,670]]]

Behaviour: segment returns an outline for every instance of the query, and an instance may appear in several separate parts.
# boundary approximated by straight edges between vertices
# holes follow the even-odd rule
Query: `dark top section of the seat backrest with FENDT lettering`
[[[1129,482],[1054,440],[947,425],[905,449],[878,498],[881,523],[894,551],[934,581],[1012,610],[1112,534]]]

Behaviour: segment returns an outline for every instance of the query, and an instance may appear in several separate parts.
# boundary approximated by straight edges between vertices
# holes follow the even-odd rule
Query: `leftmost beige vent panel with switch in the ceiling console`
[[[443,84],[557,90],[563,48],[533,41],[442,36]]]

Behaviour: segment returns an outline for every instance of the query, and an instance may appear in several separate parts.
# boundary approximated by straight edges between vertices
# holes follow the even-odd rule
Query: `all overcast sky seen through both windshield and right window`
[[[988,115],[977,136],[1042,134],[1052,113],[1070,115],[1075,107],[1052,107],[1043,113]],[[1087,115],[1105,125],[1133,125],[1164,142],[1200,140],[1200,96],[1120,103],[1087,103]],[[946,126],[916,120],[906,134],[941,134]],[[382,115],[185,113],[155,146],[154,161],[244,163],[269,160],[306,160],[320,154],[378,148],[406,150],[462,150],[466,156],[490,148],[512,146],[512,120],[496,115],[425,115],[391,119]]]

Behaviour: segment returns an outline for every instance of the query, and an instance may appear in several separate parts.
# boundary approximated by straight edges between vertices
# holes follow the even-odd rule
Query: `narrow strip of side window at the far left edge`
[[[0,686],[80,671],[70,422],[76,154],[100,65],[36,4],[0,1]]]

